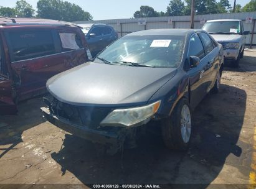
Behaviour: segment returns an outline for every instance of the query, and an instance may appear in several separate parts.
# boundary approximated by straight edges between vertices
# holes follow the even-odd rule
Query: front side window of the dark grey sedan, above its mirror
[[[199,57],[200,59],[204,58],[204,47],[197,34],[192,35],[189,42],[189,57],[190,56]]]

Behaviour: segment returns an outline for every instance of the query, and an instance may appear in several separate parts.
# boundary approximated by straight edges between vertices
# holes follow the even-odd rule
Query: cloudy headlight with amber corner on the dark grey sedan
[[[141,106],[138,108],[115,109],[103,119],[100,124],[102,126],[126,126],[132,127],[138,124],[146,124],[150,120],[160,106],[161,101]]]

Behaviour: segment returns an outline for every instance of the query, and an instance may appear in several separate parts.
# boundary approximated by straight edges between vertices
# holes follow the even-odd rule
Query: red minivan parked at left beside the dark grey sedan
[[[0,114],[46,92],[46,81],[88,61],[82,30],[74,24],[0,17]]]

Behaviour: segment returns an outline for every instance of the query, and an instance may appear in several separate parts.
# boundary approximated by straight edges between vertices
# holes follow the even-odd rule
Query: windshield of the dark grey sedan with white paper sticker
[[[184,48],[184,36],[126,36],[107,47],[95,62],[147,67],[178,67]],[[129,64],[130,63],[130,64]]]

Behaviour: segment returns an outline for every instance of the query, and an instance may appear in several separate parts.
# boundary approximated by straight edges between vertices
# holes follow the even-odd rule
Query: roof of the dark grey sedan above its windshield
[[[141,30],[138,32],[133,32],[128,34],[129,36],[132,35],[180,35],[185,36],[187,34],[193,34],[196,32],[205,32],[201,29],[150,29],[150,30]]]

